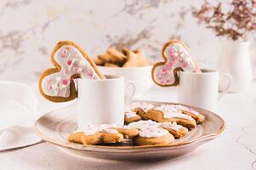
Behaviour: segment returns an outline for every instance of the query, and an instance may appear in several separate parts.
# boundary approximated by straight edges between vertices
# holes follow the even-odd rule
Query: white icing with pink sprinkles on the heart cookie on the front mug
[[[69,97],[71,76],[80,74],[82,78],[100,79],[81,52],[71,46],[64,45],[54,54],[54,60],[61,70],[43,77],[43,93],[48,96]]]

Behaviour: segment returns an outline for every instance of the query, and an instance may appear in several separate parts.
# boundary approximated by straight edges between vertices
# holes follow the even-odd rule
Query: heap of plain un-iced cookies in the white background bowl
[[[140,67],[151,65],[145,58],[145,53],[139,49],[130,50],[123,48],[118,51],[116,48],[108,48],[105,54],[100,54],[94,59],[96,65],[108,67]]]

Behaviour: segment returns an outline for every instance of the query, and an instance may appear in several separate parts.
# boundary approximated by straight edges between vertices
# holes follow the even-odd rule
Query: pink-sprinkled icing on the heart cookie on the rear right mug
[[[184,71],[200,72],[191,54],[179,42],[168,45],[163,52],[167,61],[164,65],[156,66],[153,78],[161,85],[171,85],[175,82],[174,69],[181,67]]]

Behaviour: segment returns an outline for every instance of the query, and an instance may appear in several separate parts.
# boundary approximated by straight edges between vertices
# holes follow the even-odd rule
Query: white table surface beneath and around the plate
[[[31,83],[30,83],[31,84]],[[37,117],[62,106],[38,97]],[[137,99],[176,101],[176,88],[151,88]],[[243,94],[226,94],[219,101],[219,116],[226,127],[218,139],[203,144],[187,156],[166,161],[102,161],[67,155],[53,144],[41,143],[0,153],[0,169],[256,169],[256,83]]]

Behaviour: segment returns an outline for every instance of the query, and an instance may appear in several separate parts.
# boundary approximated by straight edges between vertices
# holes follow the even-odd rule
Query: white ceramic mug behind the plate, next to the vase
[[[218,96],[219,75],[226,77],[228,82]],[[201,73],[179,71],[179,103],[192,105],[208,111],[217,110],[217,101],[228,91],[232,78],[219,71],[202,69]]]

